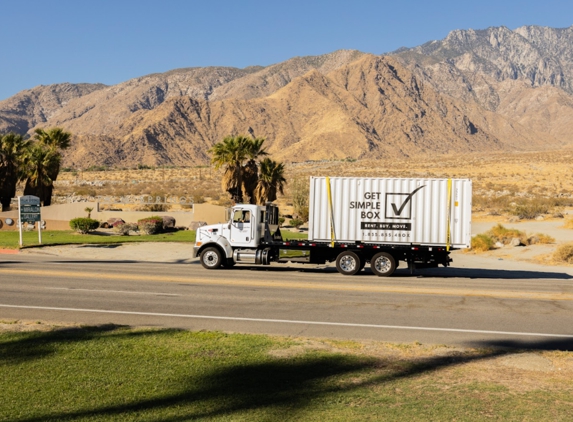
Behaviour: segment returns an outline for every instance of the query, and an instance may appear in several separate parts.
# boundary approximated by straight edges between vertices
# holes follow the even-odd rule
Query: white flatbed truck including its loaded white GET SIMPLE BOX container
[[[228,222],[197,229],[193,256],[204,268],[273,262],[336,263],[343,275],[368,264],[391,276],[452,262],[471,243],[468,179],[311,177],[307,239],[283,239],[279,209],[236,204]]]

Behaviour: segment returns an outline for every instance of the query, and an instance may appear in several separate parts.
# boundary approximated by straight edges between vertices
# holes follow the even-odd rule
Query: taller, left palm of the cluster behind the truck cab
[[[263,142],[264,139],[252,139],[243,135],[227,136],[209,150],[213,155],[211,162],[215,164],[215,168],[225,168],[221,187],[229,192],[236,203],[243,202],[243,176],[247,173],[245,163],[266,154],[262,148]],[[250,174],[247,173],[247,177],[250,177]],[[249,195],[248,190],[246,193]]]

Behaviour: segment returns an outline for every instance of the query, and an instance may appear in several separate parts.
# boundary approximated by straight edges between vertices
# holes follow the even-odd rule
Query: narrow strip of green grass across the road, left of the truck
[[[0,249],[16,249],[19,247],[19,234],[17,231],[0,232]],[[68,244],[113,244],[126,242],[195,242],[195,231],[180,230],[173,233],[160,233],[145,236],[119,236],[78,234],[73,231],[48,230],[42,232],[42,245],[68,245]],[[38,232],[23,233],[24,247],[38,246]]]

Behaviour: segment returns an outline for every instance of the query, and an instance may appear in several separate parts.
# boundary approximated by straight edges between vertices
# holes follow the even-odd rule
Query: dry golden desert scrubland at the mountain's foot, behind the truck
[[[563,217],[573,206],[573,150],[414,157],[388,160],[309,161],[287,164],[287,180],[302,176],[469,178],[473,181],[473,211],[515,218]],[[56,182],[64,202],[81,195],[192,196],[196,203],[229,205],[220,187],[221,173],[212,167],[159,167],[105,171],[67,171]],[[278,202],[289,214],[292,183]],[[573,227],[573,220],[567,220]]]

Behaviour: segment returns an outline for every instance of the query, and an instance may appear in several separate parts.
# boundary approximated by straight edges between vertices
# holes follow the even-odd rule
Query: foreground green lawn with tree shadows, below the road
[[[569,372],[483,369],[500,351],[309,342],[114,325],[0,332],[0,420],[571,420]]]

